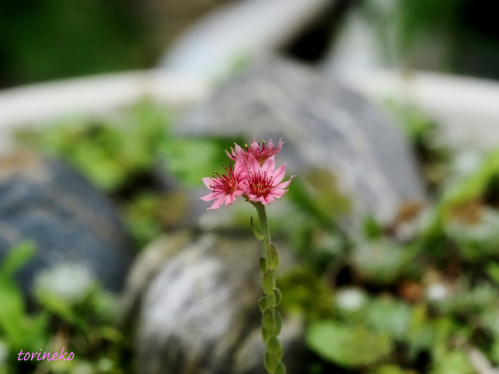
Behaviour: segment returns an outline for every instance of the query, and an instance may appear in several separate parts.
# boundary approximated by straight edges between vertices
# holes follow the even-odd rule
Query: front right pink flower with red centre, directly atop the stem
[[[246,180],[246,194],[251,201],[260,201],[262,204],[268,204],[275,197],[283,196],[289,186],[291,176],[287,182],[280,183],[286,174],[286,164],[275,168],[274,156],[270,156],[263,165],[260,165],[253,155],[249,156],[248,166],[250,175]]]

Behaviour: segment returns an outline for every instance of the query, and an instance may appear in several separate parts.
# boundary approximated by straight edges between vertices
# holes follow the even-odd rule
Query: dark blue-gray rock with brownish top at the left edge
[[[77,268],[82,277],[88,273],[118,292],[133,259],[109,199],[65,164],[30,152],[0,159],[0,263],[22,239],[37,245],[15,275],[25,293],[40,272],[60,267]],[[71,272],[57,271],[55,277]]]

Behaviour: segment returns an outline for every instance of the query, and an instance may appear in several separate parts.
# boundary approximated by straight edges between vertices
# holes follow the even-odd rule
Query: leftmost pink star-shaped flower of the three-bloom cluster
[[[225,167],[225,165],[224,165]],[[217,209],[225,201],[225,206],[231,205],[237,196],[245,193],[245,181],[248,178],[248,162],[244,157],[238,157],[234,168],[229,164],[229,169],[225,168],[227,175],[220,176],[217,172],[213,171],[217,177],[203,178],[203,183],[206,187],[210,188],[212,192],[206,196],[200,197],[205,201],[216,199],[213,205],[208,208]]]

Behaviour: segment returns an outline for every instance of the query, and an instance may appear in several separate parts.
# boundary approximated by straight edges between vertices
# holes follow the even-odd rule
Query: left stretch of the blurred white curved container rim
[[[103,74],[1,90],[0,151],[12,143],[11,130],[20,124],[109,112],[144,96],[181,105],[203,99],[208,91],[201,79],[163,70]]]

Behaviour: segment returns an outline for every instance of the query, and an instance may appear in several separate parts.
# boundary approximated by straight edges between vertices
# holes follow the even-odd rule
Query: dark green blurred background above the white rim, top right
[[[499,26],[487,0],[363,0],[390,67],[498,79]]]

